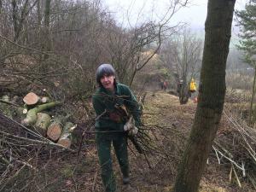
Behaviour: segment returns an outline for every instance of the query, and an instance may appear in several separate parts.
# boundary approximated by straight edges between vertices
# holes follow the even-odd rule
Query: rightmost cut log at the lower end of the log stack
[[[70,148],[72,143],[72,132],[76,128],[71,122],[67,122],[62,130],[61,137],[58,140],[58,144],[61,144],[65,148]]]

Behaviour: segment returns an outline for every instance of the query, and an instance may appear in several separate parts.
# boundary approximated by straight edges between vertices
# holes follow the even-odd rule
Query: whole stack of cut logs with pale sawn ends
[[[9,118],[20,121],[21,125],[31,129],[35,134],[70,148],[76,125],[68,121],[70,114],[55,114],[54,108],[60,106],[61,102],[52,102],[48,96],[38,96],[33,92],[22,98],[22,104],[17,104],[18,101],[17,96],[12,99],[9,96],[2,96],[0,110]]]

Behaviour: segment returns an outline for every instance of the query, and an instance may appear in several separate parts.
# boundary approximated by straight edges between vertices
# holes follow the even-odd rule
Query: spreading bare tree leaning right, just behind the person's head
[[[136,23],[129,30],[111,29],[108,34],[108,53],[119,73],[119,80],[132,85],[138,71],[148,64],[160,50],[166,34],[176,32],[179,24],[169,26],[172,16],[178,9],[186,6],[187,0],[170,1],[170,7],[160,20],[148,20]]]

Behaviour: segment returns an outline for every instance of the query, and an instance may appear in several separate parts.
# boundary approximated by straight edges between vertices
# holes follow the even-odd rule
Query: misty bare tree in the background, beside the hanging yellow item
[[[183,80],[180,102],[188,102],[189,80],[197,78],[201,69],[202,39],[188,29],[168,39],[161,49],[162,60],[170,72],[176,77],[175,84]]]

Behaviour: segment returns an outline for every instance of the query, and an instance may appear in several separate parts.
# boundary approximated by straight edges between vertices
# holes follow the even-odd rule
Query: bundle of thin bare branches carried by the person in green
[[[147,92],[141,93],[140,96],[138,96],[139,105],[142,111],[144,109],[144,101],[146,96]],[[157,115],[159,113],[155,114]],[[183,140],[185,139],[184,136],[188,134],[183,133],[184,130],[177,130],[176,128],[177,127],[175,124],[172,124],[172,126],[163,126],[157,124],[143,125],[138,129],[136,136],[129,136],[128,134],[128,138],[137,149],[137,152],[139,154],[144,154],[148,162],[148,166],[151,167],[151,163],[149,162],[148,158],[150,158],[151,161],[154,161],[152,162],[153,164],[158,164],[155,163],[155,161],[166,160],[166,162],[170,162],[170,154],[182,154]],[[180,143],[178,141],[180,141]],[[176,148],[177,150],[174,151],[173,148]],[[159,160],[153,160],[155,158]]]

